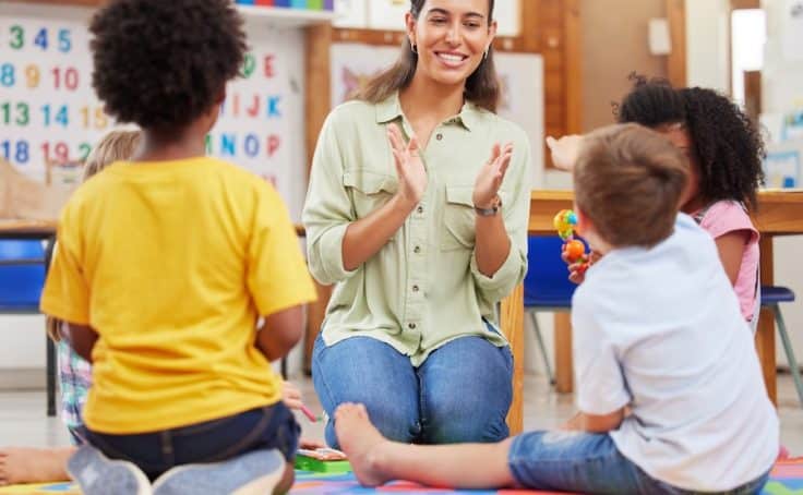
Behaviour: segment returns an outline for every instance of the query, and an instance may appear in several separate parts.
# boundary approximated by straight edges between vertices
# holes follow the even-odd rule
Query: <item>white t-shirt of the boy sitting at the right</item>
[[[572,303],[577,406],[632,408],[610,433],[650,476],[724,491],[766,472],[778,418],[711,237],[679,215],[652,249],[613,250]]]

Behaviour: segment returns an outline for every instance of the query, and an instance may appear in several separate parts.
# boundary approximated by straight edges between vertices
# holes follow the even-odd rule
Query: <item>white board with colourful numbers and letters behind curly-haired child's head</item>
[[[92,88],[93,9],[0,4],[0,157],[44,180],[115,126]],[[295,220],[305,192],[303,33],[247,19],[242,77],[227,87],[207,153],[275,184]],[[166,102],[169,104],[169,102]]]

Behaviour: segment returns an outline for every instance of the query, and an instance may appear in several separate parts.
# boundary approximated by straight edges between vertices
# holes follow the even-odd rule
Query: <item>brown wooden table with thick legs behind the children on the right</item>
[[[573,207],[574,193],[571,191],[532,191],[530,195],[530,234],[553,234],[552,217],[564,208]],[[803,193],[792,192],[760,192],[758,194],[758,214],[754,218],[755,225],[762,234],[762,285],[770,286],[774,282],[772,239],[777,236],[792,236],[803,233]],[[520,288],[519,288],[520,291]],[[512,298],[520,297],[513,294]],[[511,299],[511,298],[508,298]],[[502,314],[502,326],[506,335],[511,336],[512,346],[523,342],[524,305],[518,299],[510,302],[510,307]],[[565,313],[555,314],[555,379],[559,391],[572,391],[572,328],[570,317]],[[777,400],[776,359],[775,359],[775,321],[771,312],[762,311],[756,333],[756,350],[762,363],[767,394],[775,402]],[[514,355],[522,354],[522,349],[514,348]],[[520,363],[520,359],[519,359]],[[516,369],[515,373],[518,373]],[[514,376],[514,384],[523,378]],[[520,416],[520,396],[511,414]],[[518,408],[514,410],[513,408]]]

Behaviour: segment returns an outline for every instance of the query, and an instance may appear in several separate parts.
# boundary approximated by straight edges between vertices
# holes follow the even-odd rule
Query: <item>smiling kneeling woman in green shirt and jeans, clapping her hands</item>
[[[529,143],[494,111],[493,0],[412,0],[398,61],[328,116],[302,220],[335,283],[312,374],[406,443],[507,436],[496,303],[527,267]],[[326,439],[337,446],[334,424]]]

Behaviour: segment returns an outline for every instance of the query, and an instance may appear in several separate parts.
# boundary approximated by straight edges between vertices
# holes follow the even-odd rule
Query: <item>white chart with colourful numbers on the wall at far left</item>
[[[86,158],[111,125],[87,46],[80,22],[0,16],[0,157],[33,178],[47,161]]]

